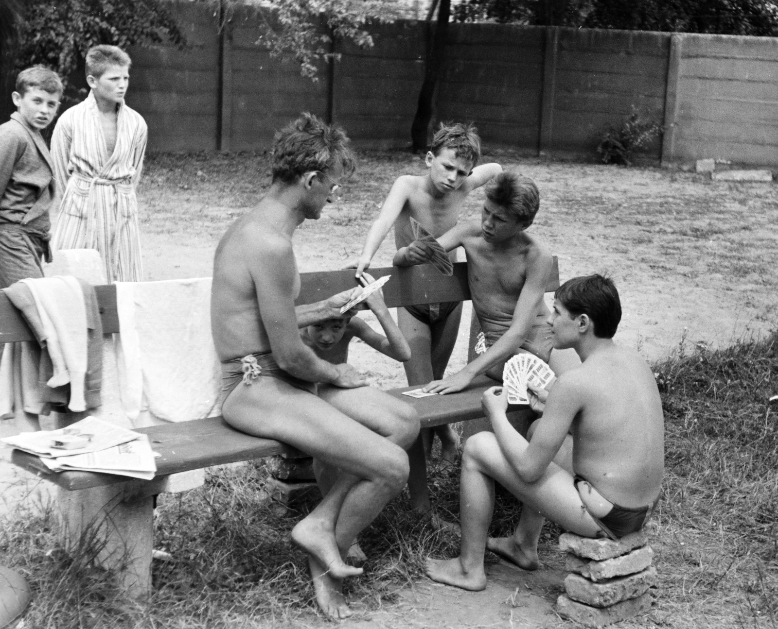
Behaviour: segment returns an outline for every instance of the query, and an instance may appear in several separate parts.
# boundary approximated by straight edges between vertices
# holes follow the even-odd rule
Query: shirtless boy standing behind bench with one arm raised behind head
[[[378,218],[370,228],[356,266],[356,276],[370,267],[378,247],[394,225],[398,249],[413,240],[411,218],[419,221],[433,236],[440,236],[457,224],[464,199],[502,171],[496,163],[476,166],[481,157],[481,140],[472,124],[440,124],[426,155],[426,175],[398,177],[384,201]],[[456,252],[450,253],[452,262]],[[426,384],[443,377],[457,340],[461,302],[398,308],[398,326],[411,347],[411,359],[405,363],[408,385]],[[419,437],[408,459],[411,473],[408,490],[411,506],[430,512],[426,484],[425,446],[431,448],[433,431],[440,437],[443,460],[457,456],[458,436],[450,425],[429,428]],[[423,433],[424,431],[422,431]]]

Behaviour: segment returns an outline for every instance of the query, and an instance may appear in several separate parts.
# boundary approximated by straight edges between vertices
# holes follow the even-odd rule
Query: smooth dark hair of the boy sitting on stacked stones
[[[622,302],[611,278],[600,274],[569,279],[554,293],[573,316],[586,314],[594,323],[594,336],[613,338],[622,320]]]

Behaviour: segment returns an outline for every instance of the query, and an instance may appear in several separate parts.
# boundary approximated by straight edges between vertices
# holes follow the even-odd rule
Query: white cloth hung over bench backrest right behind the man
[[[211,278],[116,282],[117,362],[124,412],[136,427],[221,412],[211,337]]]

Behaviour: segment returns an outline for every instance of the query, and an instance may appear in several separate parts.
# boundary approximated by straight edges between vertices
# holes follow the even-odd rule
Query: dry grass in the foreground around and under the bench
[[[655,365],[666,418],[664,498],[652,540],[661,574],[654,611],[628,626],[778,625],[778,334],[721,351],[696,348]],[[261,463],[209,470],[205,487],[160,496],[152,604],[121,599],[94,568],[89,537],[75,560],[58,550],[53,513],[16,514],[0,533],[0,560],[35,589],[31,627],[220,629],[316,622],[303,553],[289,543],[300,513],[262,504]],[[458,475],[434,468],[430,487],[447,519],[458,512]],[[520,505],[498,492],[492,534],[510,534]],[[559,529],[546,526],[541,554],[555,557]],[[457,540],[408,510],[405,495],[361,538],[370,557],[349,582],[357,610],[392,603],[422,577],[429,555],[452,556]],[[547,592],[555,596],[556,592]],[[51,620],[56,618],[58,620]]]

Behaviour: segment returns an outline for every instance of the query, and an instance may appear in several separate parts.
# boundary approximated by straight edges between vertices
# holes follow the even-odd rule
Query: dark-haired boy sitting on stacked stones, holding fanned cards
[[[544,518],[581,536],[614,539],[650,518],[664,469],[664,418],[649,366],[612,340],[621,314],[619,293],[601,275],[573,278],[556,291],[548,317],[554,348],[575,349],[583,363],[559,376],[550,393],[531,395],[542,417],[529,442],[508,423],[503,389],[485,391],[494,432],[464,446],[460,556],[429,559],[430,578],[484,589],[486,548],[537,569]],[[495,481],[524,503],[510,538],[487,539]]]

